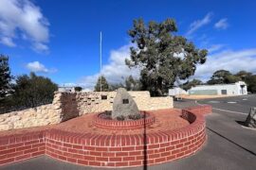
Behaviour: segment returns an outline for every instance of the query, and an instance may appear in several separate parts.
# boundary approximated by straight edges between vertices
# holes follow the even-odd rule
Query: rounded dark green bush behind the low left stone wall
[[[15,105],[31,108],[51,103],[58,86],[47,77],[30,73],[29,76],[17,76],[13,89]]]

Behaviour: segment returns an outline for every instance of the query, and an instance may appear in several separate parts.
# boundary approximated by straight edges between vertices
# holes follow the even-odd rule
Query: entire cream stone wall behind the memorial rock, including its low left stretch
[[[139,110],[173,108],[172,97],[151,97],[149,92],[129,92]],[[0,131],[58,124],[90,112],[112,110],[116,92],[55,93],[52,104],[0,114]]]

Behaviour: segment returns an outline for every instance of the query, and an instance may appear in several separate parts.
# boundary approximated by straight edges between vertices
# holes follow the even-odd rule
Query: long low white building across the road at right
[[[244,81],[238,81],[233,84],[199,85],[192,87],[189,94],[244,95],[247,94],[247,84]]]

